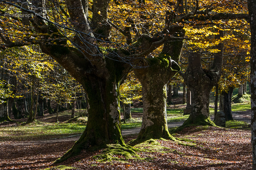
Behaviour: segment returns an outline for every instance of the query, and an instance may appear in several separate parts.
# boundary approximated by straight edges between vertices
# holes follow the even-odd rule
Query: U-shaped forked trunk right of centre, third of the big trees
[[[223,37],[223,31],[219,31],[216,36],[217,39],[220,37]],[[216,48],[220,51],[215,53],[210,70],[202,68],[200,51],[189,53],[188,68],[183,74],[183,78],[191,91],[191,110],[188,119],[177,130],[190,125],[215,125],[210,120],[209,102],[211,89],[220,79],[223,43],[219,43]]]

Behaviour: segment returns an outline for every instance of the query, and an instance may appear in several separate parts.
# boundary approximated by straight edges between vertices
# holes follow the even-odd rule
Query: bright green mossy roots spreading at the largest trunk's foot
[[[136,154],[139,151],[131,146],[121,146],[120,144],[110,144],[106,145],[106,148],[101,152],[101,154],[93,156],[99,162],[105,161],[124,161],[133,158],[139,158]],[[118,155],[118,156],[117,156]]]

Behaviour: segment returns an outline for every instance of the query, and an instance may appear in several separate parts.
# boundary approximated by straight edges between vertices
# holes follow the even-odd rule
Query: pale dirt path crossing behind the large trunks
[[[240,112],[232,112],[233,119],[236,121],[243,121],[246,123],[251,122],[251,111],[240,111]],[[211,116],[211,120],[214,120],[214,117]],[[180,122],[168,122],[168,128],[181,126],[184,121]],[[140,127],[133,128],[133,129],[123,129],[122,135],[131,135],[137,134],[140,132]],[[13,142],[9,143],[10,145],[32,145],[32,144],[42,144],[42,143],[56,143],[56,142],[66,142],[66,141],[77,141],[81,135],[73,135],[64,138],[56,138],[56,139],[49,139],[49,140],[37,140],[37,141],[24,141],[24,142]]]

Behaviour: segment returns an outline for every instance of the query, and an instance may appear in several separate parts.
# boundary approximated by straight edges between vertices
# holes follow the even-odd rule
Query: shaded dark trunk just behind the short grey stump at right
[[[222,91],[220,94],[219,110],[224,112],[226,121],[233,120],[231,111],[231,99],[233,94],[233,87],[230,87],[228,91]]]

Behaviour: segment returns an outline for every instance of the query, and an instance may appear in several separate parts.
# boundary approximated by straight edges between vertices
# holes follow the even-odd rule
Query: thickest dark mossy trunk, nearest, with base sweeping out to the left
[[[119,82],[115,75],[102,77],[88,76],[81,82],[88,99],[88,123],[82,136],[71,150],[57,162],[77,155],[82,149],[89,147],[105,147],[109,143],[125,146],[121,135]],[[97,103],[97,104],[95,104]]]

